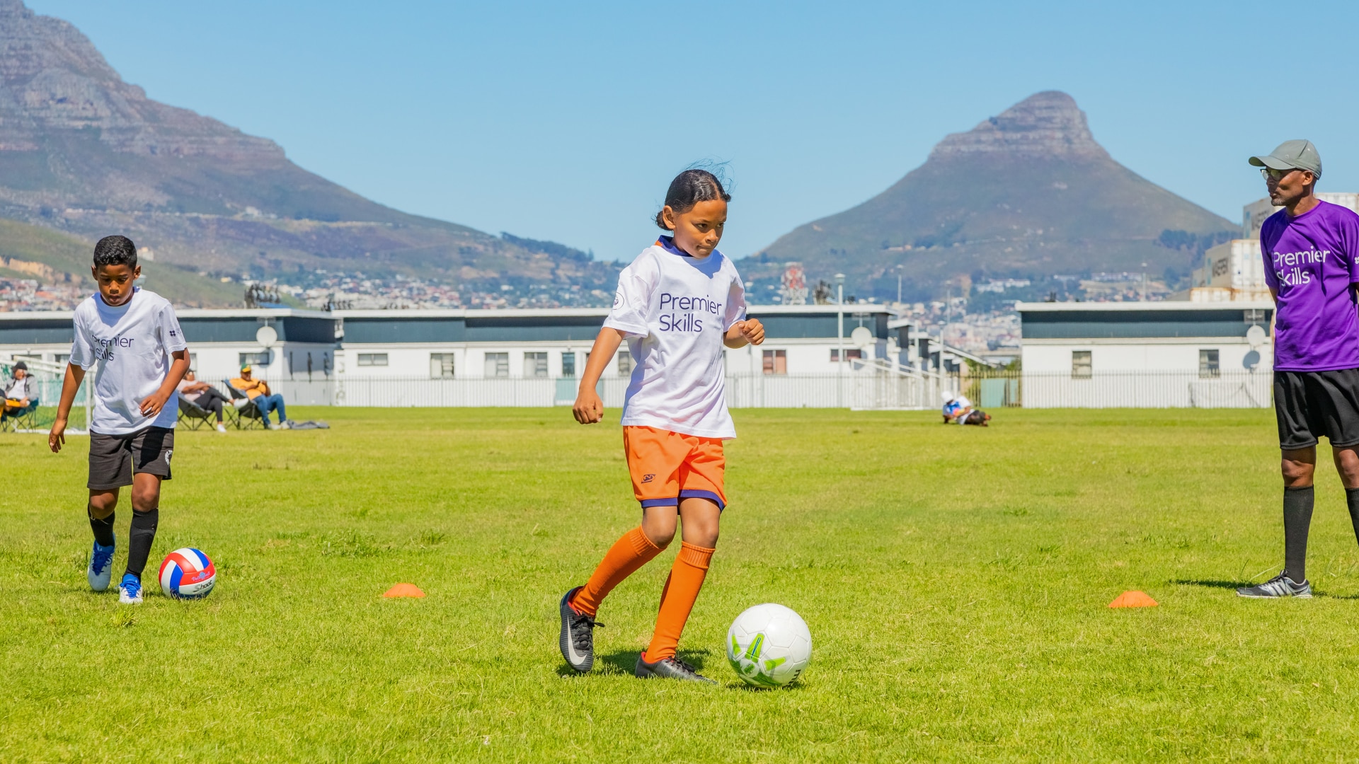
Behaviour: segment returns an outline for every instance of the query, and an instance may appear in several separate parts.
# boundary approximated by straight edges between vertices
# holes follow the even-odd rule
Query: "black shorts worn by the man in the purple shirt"
[[[1286,451],[1359,445],[1359,368],[1275,371],[1275,417]]]

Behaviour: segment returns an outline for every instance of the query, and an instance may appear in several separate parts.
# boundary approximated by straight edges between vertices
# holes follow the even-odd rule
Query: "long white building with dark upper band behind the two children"
[[[336,405],[553,405],[575,400],[607,309],[178,310],[198,379],[220,383],[242,363],[288,402]],[[852,360],[900,359],[885,306],[752,306],[761,347],[728,349],[733,405],[851,405],[834,378]],[[840,317],[843,315],[843,328]],[[64,363],[71,311],[0,313],[0,360]],[[276,340],[261,344],[269,326]],[[863,328],[859,340],[855,329]],[[840,338],[843,334],[843,340]],[[905,344],[905,343],[902,343]],[[840,348],[845,363],[841,364]],[[621,405],[626,347],[601,392]],[[734,400],[735,398],[735,400]]]

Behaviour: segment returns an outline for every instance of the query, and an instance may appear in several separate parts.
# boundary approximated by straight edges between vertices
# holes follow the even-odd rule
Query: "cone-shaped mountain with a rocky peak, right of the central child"
[[[959,277],[1188,272],[1182,241],[1237,230],[1114,162],[1076,102],[1048,91],[945,137],[887,190],[742,265],[768,277],[802,261],[811,280],[839,271],[847,294],[878,298],[896,298],[900,272],[905,295],[921,299]]]

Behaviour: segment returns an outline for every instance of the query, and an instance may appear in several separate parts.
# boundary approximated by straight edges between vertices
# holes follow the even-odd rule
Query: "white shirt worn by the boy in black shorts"
[[[71,363],[86,371],[95,367],[90,430],[128,435],[147,427],[174,427],[177,393],[159,416],[141,416],[141,401],[160,389],[170,372],[170,353],[188,348],[170,302],[135,287],[132,299],[109,307],[95,292],[76,307],[75,325]]]

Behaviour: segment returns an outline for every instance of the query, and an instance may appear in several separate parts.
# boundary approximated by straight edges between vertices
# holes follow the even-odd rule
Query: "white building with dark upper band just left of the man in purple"
[[[1269,405],[1272,302],[1015,307],[1025,408]]]

